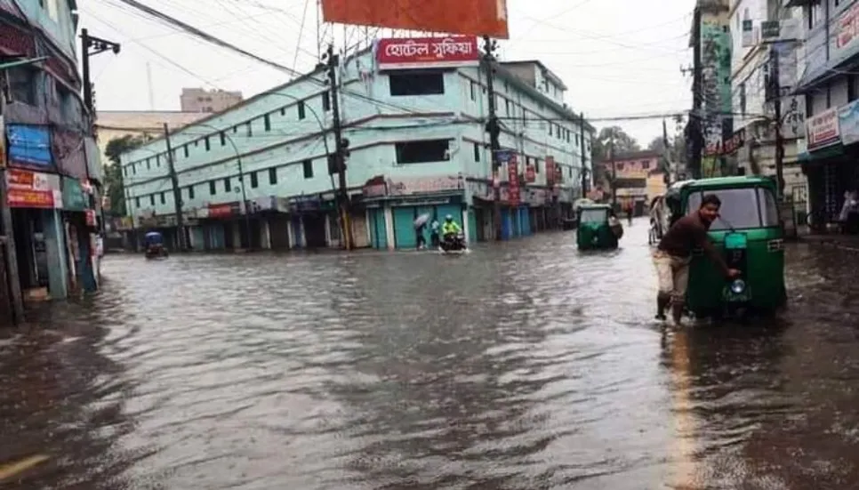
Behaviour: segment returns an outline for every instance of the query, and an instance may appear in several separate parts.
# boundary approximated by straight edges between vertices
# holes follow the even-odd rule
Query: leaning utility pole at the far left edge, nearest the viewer
[[[9,208],[9,189],[6,182],[6,128],[4,117],[6,115],[6,72],[0,72],[0,253],[3,253],[4,277],[0,280],[6,281],[4,289],[9,292],[10,307],[12,309],[12,325],[24,322],[24,300],[20,291],[20,276],[18,272],[18,251],[15,249],[15,230],[12,227],[12,209]]]

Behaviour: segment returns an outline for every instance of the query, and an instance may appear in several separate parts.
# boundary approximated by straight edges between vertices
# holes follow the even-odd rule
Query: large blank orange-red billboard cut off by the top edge
[[[326,22],[510,38],[507,0],[322,0]]]

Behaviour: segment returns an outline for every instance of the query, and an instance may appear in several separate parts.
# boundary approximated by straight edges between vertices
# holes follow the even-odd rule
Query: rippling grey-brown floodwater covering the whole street
[[[0,477],[47,458],[0,487],[856,488],[859,254],[788,255],[783,320],[683,329],[646,221],[615,253],[110,256],[0,341]]]

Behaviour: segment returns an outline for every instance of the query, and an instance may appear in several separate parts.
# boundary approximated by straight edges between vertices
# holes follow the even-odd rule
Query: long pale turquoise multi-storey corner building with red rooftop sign
[[[502,238],[521,237],[572,213],[582,169],[590,187],[594,128],[563,103],[558,77],[536,61],[494,67],[494,169],[478,40],[407,41],[381,39],[341,60],[353,245],[413,248],[421,214],[451,215],[473,242],[494,238],[496,224]],[[125,153],[135,228],[159,229],[169,245],[183,236],[197,250],[340,246],[333,108],[317,69],[173,132],[170,156],[164,138]]]

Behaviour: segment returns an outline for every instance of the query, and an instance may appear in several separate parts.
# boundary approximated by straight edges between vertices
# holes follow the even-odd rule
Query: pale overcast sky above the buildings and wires
[[[317,63],[316,0],[140,2],[282,65],[306,71]],[[182,87],[238,90],[249,97],[289,79],[179,34],[118,0],[79,5],[81,27],[122,43],[119,55],[105,52],[92,59],[100,109],[178,110]],[[691,79],[680,68],[691,62],[686,46],[693,5],[693,0],[508,0],[510,40],[502,42],[500,57],[542,60],[569,86],[566,102],[589,118],[685,111],[691,106]],[[662,133],[658,118],[594,121],[597,127],[613,124],[642,145]]]

